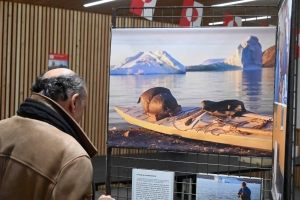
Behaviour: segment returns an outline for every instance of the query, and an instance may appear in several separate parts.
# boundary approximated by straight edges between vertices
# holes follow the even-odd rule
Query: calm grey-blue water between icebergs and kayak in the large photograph
[[[238,99],[247,110],[273,114],[274,69],[203,71],[173,75],[110,76],[109,128],[133,127],[114,106],[141,106],[139,96],[152,87],[169,88],[181,106],[200,107],[203,100]]]

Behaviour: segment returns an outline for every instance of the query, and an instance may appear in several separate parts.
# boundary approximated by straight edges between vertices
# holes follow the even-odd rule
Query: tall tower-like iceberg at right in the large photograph
[[[262,49],[256,36],[249,36],[236,49],[235,54],[223,61],[245,69],[261,68]]]

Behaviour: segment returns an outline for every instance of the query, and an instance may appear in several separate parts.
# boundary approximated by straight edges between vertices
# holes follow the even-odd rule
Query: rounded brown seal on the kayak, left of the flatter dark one
[[[142,108],[148,116],[155,120],[160,120],[181,111],[181,106],[168,88],[154,87],[145,91],[137,103],[142,104]]]

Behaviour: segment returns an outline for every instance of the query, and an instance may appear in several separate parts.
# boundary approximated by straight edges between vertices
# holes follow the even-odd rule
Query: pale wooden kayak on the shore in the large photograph
[[[114,107],[128,123],[184,138],[272,150],[271,116],[247,113],[241,117],[216,117],[200,107],[182,107],[174,116],[153,120],[142,108]]]

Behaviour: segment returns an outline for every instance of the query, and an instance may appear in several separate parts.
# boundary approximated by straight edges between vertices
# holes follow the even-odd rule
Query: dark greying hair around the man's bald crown
[[[79,102],[86,95],[86,82],[77,74],[61,75],[57,77],[37,77],[31,91],[49,97],[54,101],[66,101],[74,94],[79,94]]]

